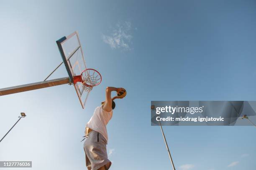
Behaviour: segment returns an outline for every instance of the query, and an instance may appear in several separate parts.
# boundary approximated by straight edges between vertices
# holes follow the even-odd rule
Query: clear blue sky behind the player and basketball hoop
[[[0,160],[85,169],[84,126],[115,86],[128,94],[108,124],[112,170],[170,169],[151,100],[256,100],[255,9],[254,0],[2,1],[1,88],[44,80],[61,62],[55,41],[75,30],[103,79],[84,110],[69,85],[0,97],[0,136],[28,115],[0,143]],[[255,170],[253,127],[163,128],[177,170]]]

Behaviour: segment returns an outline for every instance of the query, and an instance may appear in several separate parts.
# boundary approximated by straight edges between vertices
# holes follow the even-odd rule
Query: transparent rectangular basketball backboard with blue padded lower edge
[[[79,101],[84,109],[84,105],[90,91],[85,91],[81,82],[74,83],[73,80],[74,76],[80,75],[83,70],[87,69],[78,32],[75,31],[67,37],[62,37],[61,39],[57,40],[56,43],[59,47],[59,52],[64,65],[67,69],[70,82],[74,84]]]

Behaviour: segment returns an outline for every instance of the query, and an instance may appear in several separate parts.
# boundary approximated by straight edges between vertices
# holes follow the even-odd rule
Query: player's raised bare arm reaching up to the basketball
[[[124,92],[125,89],[124,88],[116,88],[116,87],[107,87],[106,88],[106,101],[105,101],[104,105],[102,106],[102,109],[107,112],[110,112],[112,110],[112,98],[111,98],[112,91],[116,91],[118,94],[120,94],[120,92]],[[115,97],[113,97],[113,99],[115,99]]]

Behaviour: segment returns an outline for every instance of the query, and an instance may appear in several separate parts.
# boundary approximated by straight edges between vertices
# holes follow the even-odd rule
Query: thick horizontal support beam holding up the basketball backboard
[[[13,87],[7,87],[0,89],[0,96],[10,95],[17,92],[26,92],[30,90],[36,90],[56,85],[71,84],[69,77],[57,78],[53,80],[46,80],[42,82],[34,82],[26,85],[18,85]]]

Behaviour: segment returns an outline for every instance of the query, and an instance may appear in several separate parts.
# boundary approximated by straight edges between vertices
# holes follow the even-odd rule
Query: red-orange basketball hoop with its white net
[[[91,91],[92,87],[99,85],[101,80],[100,72],[92,68],[82,71],[81,75],[76,75],[73,78],[74,84],[81,82],[85,91]]]

